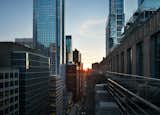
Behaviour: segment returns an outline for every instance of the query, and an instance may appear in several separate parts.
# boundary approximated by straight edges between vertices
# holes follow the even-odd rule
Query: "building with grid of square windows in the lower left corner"
[[[0,68],[0,115],[20,115],[17,69]]]

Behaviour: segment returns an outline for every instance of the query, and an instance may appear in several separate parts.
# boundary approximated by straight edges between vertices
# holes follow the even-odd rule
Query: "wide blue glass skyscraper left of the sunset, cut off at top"
[[[65,62],[64,0],[34,0],[34,47],[51,57],[51,74]]]

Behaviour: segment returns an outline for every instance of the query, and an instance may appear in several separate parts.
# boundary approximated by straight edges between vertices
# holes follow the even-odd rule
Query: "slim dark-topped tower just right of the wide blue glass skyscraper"
[[[72,36],[66,36],[66,63],[72,63]]]

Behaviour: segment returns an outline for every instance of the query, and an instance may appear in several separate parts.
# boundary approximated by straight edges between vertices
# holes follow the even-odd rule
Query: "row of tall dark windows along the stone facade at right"
[[[152,37],[149,54],[150,56],[144,56],[144,43],[139,42],[136,44],[136,52],[133,52],[132,48],[128,48],[126,53],[123,51],[120,54],[114,56],[109,62],[109,70],[116,72],[125,72],[125,64],[126,64],[126,72],[128,74],[132,74],[133,70],[133,58],[136,62],[136,74],[144,75],[144,60],[145,58],[150,58],[150,75],[155,78],[160,78],[160,34],[156,34]],[[133,57],[133,55],[135,55]],[[125,63],[126,62],[126,63]]]

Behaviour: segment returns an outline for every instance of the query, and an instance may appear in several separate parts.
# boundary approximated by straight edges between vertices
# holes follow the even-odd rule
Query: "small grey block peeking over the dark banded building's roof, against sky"
[[[15,42],[33,48],[33,38],[15,38]]]

